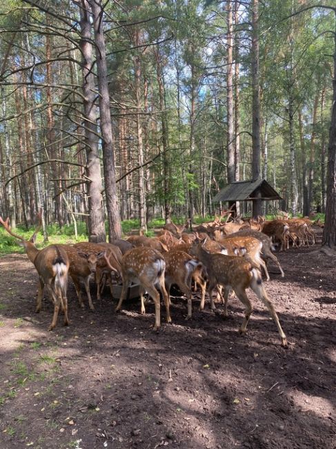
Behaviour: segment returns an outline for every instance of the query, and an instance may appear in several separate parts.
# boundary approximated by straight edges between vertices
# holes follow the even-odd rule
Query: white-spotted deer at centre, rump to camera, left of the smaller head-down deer
[[[110,265],[108,256],[105,256],[105,258],[108,265]],[[164,284],[165,269],[166,262],[164,257],[156,249],[137,247],[127,251],[121,260],[121,277],[123,280],[123,287],[121,289],[121,296],[115,311],[119,312],[121,309],[121,305],[123,300],[126,298],[127,289],[130,284],[132,282],[140,283],[141,287],[143,287],[143,289],[146,290],[146,292],[151,296],[155,304],[155,325],[153,329],[159,330],[161,324],[159,291],[162,296],[164,296],[167,323],[171,323],[172,320],[169,312],[169,298]],[[141,313],[145,313],[143,293],[144,292],[141,292]]]

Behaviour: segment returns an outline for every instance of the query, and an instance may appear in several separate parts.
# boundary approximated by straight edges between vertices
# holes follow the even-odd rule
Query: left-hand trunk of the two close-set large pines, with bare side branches
[[[86,177],[88,179],[89,242],[105,242],[103,185],[98,151],[95,76],[92,72],[92,26],[87,0],[81,0],[81,54],[83,57],[83,124],[86,136]]]

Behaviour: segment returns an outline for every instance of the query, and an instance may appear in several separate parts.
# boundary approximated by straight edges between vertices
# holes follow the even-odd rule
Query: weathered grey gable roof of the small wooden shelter
[[[257,195],[261,192],[261,196]],[[228,184],[213,198],[213,202],[219,201],[249,201],[260,198],[261,200],[281,200],[281,196],[266,180],[237,181]]]

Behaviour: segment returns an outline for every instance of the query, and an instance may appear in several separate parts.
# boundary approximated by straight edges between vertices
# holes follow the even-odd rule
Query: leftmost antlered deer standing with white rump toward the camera
[[[64,325],[66,326],[69,324],[68,298],[66,296],[66,290],[68,288],[69,259],[66,251],[59,247],[59,245],[50,245],[41,250],[35,247],[34,240],[37,236],[37,232],[41,228],[41,217],[42,211],[39,212],[39,225],[30,240],[25,240],[23,237],[18,236],[11,231],[9,218],[7,218],[6,221],[3,221],[0,217],[0,223],[11,236],[20,240],[18,244],[24,247],[28,259],[37,269],[37,273],[39,274],[39,291],[37,294],[36,312],[39,313],[41,310],[44,287],[46,287],[52,298],[52,302],[54,303],[54,314],[49,326],[49,330],[52,330],[57,323],[60,305],[64,312]]]

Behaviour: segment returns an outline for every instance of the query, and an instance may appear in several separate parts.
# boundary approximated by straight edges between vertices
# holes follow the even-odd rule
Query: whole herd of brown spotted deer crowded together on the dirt
[[[19,245],[25,248],[29,260],[37,269],[39,289],[36,312],[41,309],[44,287],[51,296],[54,314],[49,330],[57,323],[60,307],[64,314],[64,325],[69,324],[68,276],[75,285],[81,307],[84,307],[80,287],[80,281],[83,281],[91,310],[94,310],[89,284],[92,274],[95,275],[97,284],[97,300],[101,297],[105,283],[109,283],[111,294],[112,285],[122,283],[116,312],[121,309],[123,300],[128,295],[128,287],[132,283],[139,284],[141,314],[146,313],[144,292],[147,292],[155,304],[155,330],[159,329],[161,323],[161,296],[166,307],[166,321],[171,322],[170,287],[173,284],[186,296],[186,319],[192,318],[194,281],[195,287],[201,289],[199,310],[204,309],[206,285],[211,309],[216,310],[213,298],[216,291],[217,297],[224,304],[224,316],[228,316],[230,292],[235,292],[245,307],[244,321],[239,327],[241,334],[245,334],[253,312],[246,294],[248,288],[252,289],[275,321],[281,345],[287,347],[286,335],[266,294],[261,273],[264,271],[266,280],[270,279],[267,263],[272,260],[279,268],[281,277],[284,277],[279,260],[272,252],[274,245],[279,244],[280,251],[285,251],[290,243],[293,247],[315,243],[313,222],[308,218],[290,220],[288,216],[281,216],[276,220],[266,221],[259,217],[258,220],[243,221],[231,218],[230,211],[226,211],[213,222],[197,227],[191,227],[189,220],[185,225],[167,223],[152,238],[140,232],[139,236],[130,236],[126,240],[117,239],[110,243],[80,242],[74,245],[50,245],[39,250],[34,241],[41,227],[41,213],[42,211],[39,213],[39,225],[30,240],[13,233],[8,218],[3,220],[0,217],[0,223],[11,236],[19,240]],[[226,221],[221,222],[225,215]],[[316,224],[319,225],[319,222]]]

